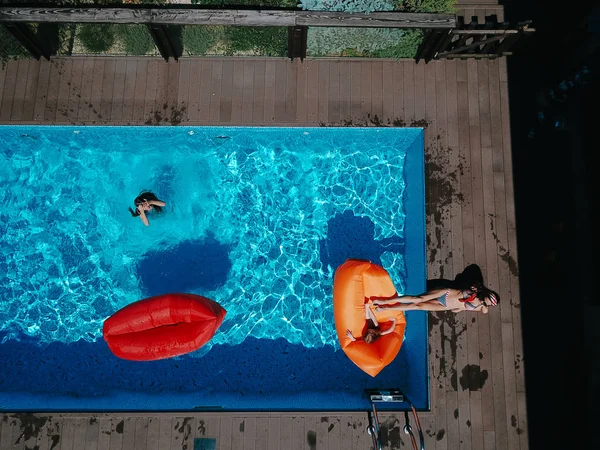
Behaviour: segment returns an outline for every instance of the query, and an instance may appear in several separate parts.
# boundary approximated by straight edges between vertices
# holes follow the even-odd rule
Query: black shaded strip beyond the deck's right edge
[[[599,448],[600,11],[597,1],[504,4],[507,19],[537,30],[508,58],[524,341],[515,364],[524,360],[530,448]]]

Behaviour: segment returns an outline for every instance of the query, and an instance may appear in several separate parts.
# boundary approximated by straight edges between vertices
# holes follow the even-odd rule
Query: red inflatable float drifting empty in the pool
[[[223,323],[225,311],[194,294],[165,294],[137,301],[104,322],[102,334],[119,358],[152,361],[198,350]]]

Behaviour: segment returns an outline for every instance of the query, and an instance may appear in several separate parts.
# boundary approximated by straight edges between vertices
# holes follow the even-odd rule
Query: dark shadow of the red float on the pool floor
[[[213,290],[225,284],[231,269],[229,247],[208,235],[146,253],[137,267],[145,295]]]

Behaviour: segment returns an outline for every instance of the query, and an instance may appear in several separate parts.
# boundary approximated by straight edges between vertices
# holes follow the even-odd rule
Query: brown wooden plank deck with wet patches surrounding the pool
[[[480,2],[484,3],[484,2]],[[465,5],[470,8],[471,5]],[[501,7],[472,6],[465,15]],[[477,263],[488,315],[432,314],[427,449],[528,448],[506,61],[58,58],[0,70],[0,123],[425,126],[429,277]],[[410,447],[383,416],[386,449]],[[368,449],[366,412],[4,414],[0,450]]]

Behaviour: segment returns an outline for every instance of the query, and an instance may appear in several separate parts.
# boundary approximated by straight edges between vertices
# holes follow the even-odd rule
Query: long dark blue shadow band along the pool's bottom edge
[[[0,340],[4,336],[5,333],[0,333]],[[115,357],[104,341],[55,342],[40,347],[35,339],[26,336],[21,339],[0,345],[3,365],[0,391],[72,396],[81,399],[82,409],[89,408],[87,397],[107,397],[121,391],[143,393],[148,396],[148,401],[156,403],[149,409],[158,410],[162,409],[163,401],[168,403],[170,393],[197,392],[206,393],[210,397],[208,400],[213,402],[212,397],[217,395],[220,405],[230,409],[245,396],[264,396],[256,408],[267,410],[269,402],[277,395],[289,399],[290,410],[322,409],[320,404],[303,404],[299,400],[321,392],[329,393],[335,409],[338,395],[331,396],[331,392],[336,392],[339,397],[365,398],[367,402],[364,389],[395,386],[398,380],[410,380],[411,376],[405,351],[401,351],[377,378],[372,378],[358,369],[342,351],[333,351],[331,347],[308,349],[289,344],[284,339],[247,338],[237,346],[215,346],[201,358],[188,355],[142,363]],[[317,373],[316,368],[326,370]],[[411,392],[408,386],[398,387]],[[151,400],[152,394],[159,393],[160,397]],[[301,395],[294,398],[294,393]],[[419,395],[411,392],[411,399],[416,403],[425,402],[424,389]],[[122,408],[114,399],[107,398],[106,401],[114,402],[115,409]],[[181,409],[191,410],[194,406],[182,404]],[[0,405],[0,409],[2,407],[6,406]],[[48,407],[53,406],[49,404]]]

